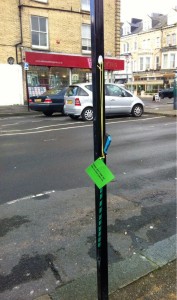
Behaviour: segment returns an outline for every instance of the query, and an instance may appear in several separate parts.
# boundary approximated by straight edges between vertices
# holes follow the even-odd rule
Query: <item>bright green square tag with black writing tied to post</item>
[[[88,166],[85,172],[99,189],[115,178],[101,157]]]

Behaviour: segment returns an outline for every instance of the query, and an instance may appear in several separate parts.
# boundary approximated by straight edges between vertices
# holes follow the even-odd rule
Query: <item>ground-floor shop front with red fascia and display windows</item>
[[[25,52],[25,62],[29,64],[26,76],[29,96],[92,80],[90,57],[31,51]],[[112,72],[123,70],[124,61],[105,58],[104,68],[105,80],[112,81]]]

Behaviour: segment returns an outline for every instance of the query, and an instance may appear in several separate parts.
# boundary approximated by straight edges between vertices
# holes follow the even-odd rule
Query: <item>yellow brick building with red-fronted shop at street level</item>
[[[90,0],[1,0],[0,64],[19,65],[24,98],[91,80]],[[120,0],[104,1],[105,78],[123,68]]]

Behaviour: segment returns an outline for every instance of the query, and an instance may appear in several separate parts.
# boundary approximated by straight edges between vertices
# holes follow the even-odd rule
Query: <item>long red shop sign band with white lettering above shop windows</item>
[[[25,52],[26,62],[32,66],[91,69],[91,57],[43,52]],[[105,58],[105,70],[124,70],[124,60]]]

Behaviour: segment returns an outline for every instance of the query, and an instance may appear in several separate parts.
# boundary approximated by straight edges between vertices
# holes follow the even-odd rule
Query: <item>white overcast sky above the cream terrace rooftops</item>
[[[167,14],[175,6],[177,0],[121,0],[121,22],[142,19],[153,12]]]

